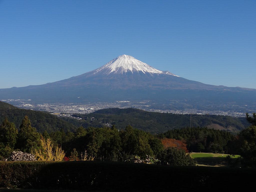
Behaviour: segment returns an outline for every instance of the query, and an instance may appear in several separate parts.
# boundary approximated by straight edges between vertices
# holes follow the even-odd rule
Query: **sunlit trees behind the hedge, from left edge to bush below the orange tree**
[[[65,159],[73,161],[133,162],[136,158],[148,159],[148,162],[153,163],[195,165],[184,149],[164,148],[159,138],[134,129],[130,125],[121,131],[114,125],[111,128],[89,127],[88,129],[80,126],[74,133],[62,129],[51,133],[44,131],[41,136],[36,128],[31,126],[28,116],[22,120],[19,132],[7,118],[0,126],[0,158],[7,158],[12,151],[20,150],[27,153],[36,152],[40,160],[52,160],[56,159],[53,147],[63,150],[62,154],[66,153],[67,156]]]

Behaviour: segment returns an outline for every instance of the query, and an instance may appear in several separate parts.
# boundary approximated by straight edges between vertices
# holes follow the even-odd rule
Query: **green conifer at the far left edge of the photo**
[[[9,122],[7,117],[5,117],[3,123],[0,125],[0,143],[9,146],[13,150],[17,137],[18,130],[14,123]]]

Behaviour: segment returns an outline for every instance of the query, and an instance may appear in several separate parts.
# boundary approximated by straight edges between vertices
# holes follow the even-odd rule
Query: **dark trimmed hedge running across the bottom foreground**
[[[0,188],[171,191],[254,187],[252,168],[118,162],[0,162]]]

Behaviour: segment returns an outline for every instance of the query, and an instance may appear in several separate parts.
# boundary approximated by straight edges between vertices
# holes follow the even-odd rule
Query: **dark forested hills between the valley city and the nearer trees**
[[[74,132],[76,128],[80,126],[88,129],[89,127],[115,125],[117,129],[124,130],[127,125],[131,125],[139,130],[152,134],[160,134],[168,130],[190,126],[189,114],[157,113],[133,108],[110,108],[89,114],[73,114],[74,117],[82,118],[82,120],[78,120],[59,118],[49,112],[19,109],[0,101],[0,122],[7,117],[8,120],[13,122],[19,129],[19,125],[25,115],[28,116],[31,125],[36,127],[39,133],[43,133],[45,130],[50,133],[62,129],[65,132]],[[235,134],[249,125],[250,124],[246,121],[246,117],[233,118],[223,115],[192,115],[191,118],[192,127],[199,126],[222,129]]]

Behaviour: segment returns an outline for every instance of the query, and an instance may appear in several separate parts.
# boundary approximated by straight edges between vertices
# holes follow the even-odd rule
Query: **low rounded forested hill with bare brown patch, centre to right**
[[[163,133],[171,129],[181,129],[190,126],[189,114],[157,113],[140,109],[101,109],[89,114],[74,114],[82,120],[72,122],[76,126],[103,127],[106,123],[114,124],[118,129],[125,129],[127,125],[150,133]],[[95,118],[91,120],[91,118]],[[192,115],[191,127],[208,127],[238,132],[249,126],[246,118],[233,118],[224,115]]]

